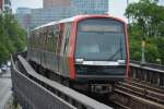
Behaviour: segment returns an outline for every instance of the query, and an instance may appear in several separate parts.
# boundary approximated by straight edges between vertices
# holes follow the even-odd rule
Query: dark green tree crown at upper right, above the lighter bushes
[[[138,26],[142,35],[164,36],[164,7],[157,5],[153,0],[129,4],[125,15],[130,19],[131,26]]]

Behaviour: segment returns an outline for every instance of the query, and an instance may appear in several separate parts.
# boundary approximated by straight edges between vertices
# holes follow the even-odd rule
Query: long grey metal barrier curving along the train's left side
[[[112,109],[37,74],[21,56],[11,61],[13,96],[24,109]]]

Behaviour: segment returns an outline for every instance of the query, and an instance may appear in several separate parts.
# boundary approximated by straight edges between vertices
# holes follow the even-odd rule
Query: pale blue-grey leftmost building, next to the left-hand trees
[[[32,9],[30,8],[17,8],[15,19],[22,28],[27,29],[31,27]]]

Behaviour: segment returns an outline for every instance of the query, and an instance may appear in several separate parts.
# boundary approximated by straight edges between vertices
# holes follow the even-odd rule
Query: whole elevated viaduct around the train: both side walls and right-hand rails
[[[129,78],[115,85],[108,101],[103,101],[110,104],[104,105],[38,74],[24,57],[11,57],[13,96],[23,109],[164,109],[162,66],[130,63]]]

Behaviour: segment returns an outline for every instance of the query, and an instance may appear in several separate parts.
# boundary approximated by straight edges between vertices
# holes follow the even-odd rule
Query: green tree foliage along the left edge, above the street
[[[0,63],[10,58],[13,52],[22,51],[25,47],[25,31],[14,16],[8,13],[0,15]]]

